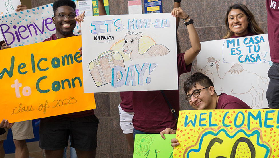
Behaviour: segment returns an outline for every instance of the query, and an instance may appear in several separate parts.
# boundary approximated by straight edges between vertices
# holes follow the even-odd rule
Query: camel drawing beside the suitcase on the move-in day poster
[[[163,56],[169,54],[169,49],[162,44],[152,45],[146,52],[140,53],[138,50],[139,42],[138,40],[143,36],[142,32],[135,34],[134,32],[128,31],[124,38],[123,52],[124,54],[130,53],[130,59],[141,59],[150,58],[153,56]]]

